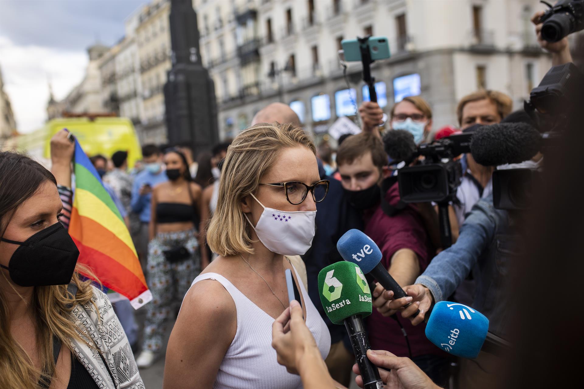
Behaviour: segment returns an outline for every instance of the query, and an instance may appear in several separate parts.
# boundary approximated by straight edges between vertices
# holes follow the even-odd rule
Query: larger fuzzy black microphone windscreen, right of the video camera
[[[525,123],[485,125],[474,132],[471,154],[483,166],[520,163],[541,149],[541,134]]]

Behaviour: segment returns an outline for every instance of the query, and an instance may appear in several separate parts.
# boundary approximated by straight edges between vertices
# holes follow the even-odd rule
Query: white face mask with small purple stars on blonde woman
[[[245,213],[244,216],[263,245],[276,254],[304,255],[312,246],[317,211],[279,211],[266,208],[253,194],[252,197],[263,207],[262,215],[255,227]]]

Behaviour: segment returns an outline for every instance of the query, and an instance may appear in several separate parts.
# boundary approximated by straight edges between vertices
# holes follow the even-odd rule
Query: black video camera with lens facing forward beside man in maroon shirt
[[[463,174],[457,156],[470,152],[472,132],[450,135],[418,146],[413,157],[425,158],[415,166],[399,169],[399,196],[409,202],[448,202],[456,196]]]

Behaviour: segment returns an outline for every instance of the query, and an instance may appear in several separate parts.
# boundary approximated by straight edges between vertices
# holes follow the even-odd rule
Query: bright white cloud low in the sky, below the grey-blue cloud
[[[0,36],[0,68],[21,133],[40,128],[47,119],[48,78],[61,100],[85,75],[84,50],[69,51],[39,45],[17,45]]]

